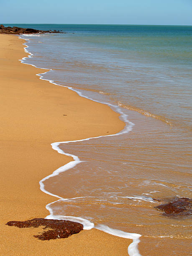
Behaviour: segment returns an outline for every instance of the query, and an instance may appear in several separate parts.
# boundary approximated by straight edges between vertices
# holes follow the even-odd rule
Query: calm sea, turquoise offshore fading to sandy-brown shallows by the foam
[[[59,146],[84,162],[45,182],[51,193],[77,197],[51,205],[54,214],[188,239],[190,219],[165,217],[153,198],[191,197],[192,26],[14,25],[67,32],[22,36],[33,54],[26,62],[53,69],[45,79],[120,106],[135,124]]]

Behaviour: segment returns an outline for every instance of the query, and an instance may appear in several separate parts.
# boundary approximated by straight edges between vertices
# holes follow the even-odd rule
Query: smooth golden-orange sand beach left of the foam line
[[[67,88],[55,87],[47,83],[47,81],[40,81],[35,76],[35,74],[39,73],[37,68],[23,65],[18,61],[23,55],[26,55],[23,54],[23,45],[20,44],[21,41],[19,38],[12,35],[1,35],[1,41],[1,51],[3,50],[3,61],[1,61],[3,62],[1,63],[1,72],[3,73],[2,90],[3,95],[7,95],[6,100],[4,99],[3,101],[5,113],[3,116],[4,129],[1,134],[3,137],[2,153],[5,155],[3,157],[4,172],[2,179],[4,186],[1,186],[1,194],[3,195],[3,212],[6,213],[1,218],[1,227],[4,233],[4,236],[1,238],[2,241],[4,240],[1,253],[3,255],[26,255],[27,251],[27,254],[37,255],[38,251],[41,252],[41,255],[52,255],[54,249],[54,253],[57,255],[64,255],[63,249],[64,247],[66,249],[67,246],[68,251],[66,255],[74,255],[74,251],[79,255],[90,255],[93,251],[95,253],[97,251],[95,255],[111,255],[114,252],[115,255],[127,255],[127,248],[132,240],[111,236],[96,229],[84,230],[67,239],[44,241],[42,243],[42,241],[38,241],[33,237],[37,232],[34,228],[19,229],[5,225],[10,220],[28,220],[31,218],[42,218],[47,215],[45,205],[53,201],[53,199],[40,191],[38,182],[47,176],[47,174],[53,172],[56,166],[61,166],[71,159],[68,156],[61,156],[55,152],[50,146],[52,141],[60,141],[61,138],[77,140],[79,138],[86,138],[87,134],[90,137],[105,136],[106,131],[116,133],[122,130],[124,123],[118,119],[118,114],[108,106],[79,97],[79,95],[67,90]],[[5,87],[5,84],[7,87]],[[44,89],[46,90],[43,93],[41,90]],[[65,92],[65,99],[61,97],[61,90],[62,94]],[[54,103],[57,103],[57,108],[50,101],[50,99],[53,100],[52,93],[54,94]],[[67,102],[67,98],[69,99],[69,97],[70,102],[69,100]],[[74,98],[73,101],[72,98]],[[63,103],[63,101],[65,101],[65,105],[60,105],[60,102]],[[89,105],[88,108],[85,108],[84,105],[86,101]],[[48,102],[51,106],[49,110],[45,110],[44,104]],[[72,103],[76,103],[75,111]],[[65,110],[62,109],[64,107]],[[73,110],[70,110],[70,108],[73,108]],[[89,112],[85,111],[85,109],[89,109]],[[89,120],[87,123],[85,122],[85,117],[82,120],[82,110]],[[90,113],[90,110],[95,112],[94,115],[91,114],[92,112]],[[58,117],[58,112],[60,114],[64,112],[67,114],[70,113],[68,115],[72,115],[71,120],[67,124],[61,121],[63,117],[61,115]],[[98,115],[98,113],[100,114]],[[55,115],[57,116],[55,117]],[[117,121],[115,127],[113,125],[112,128],[111,123],[114,118]],[[69,130],[71,131],[74,124],[77,126],[77,120],[79,122],[81,121],[82,129],[79,130],[76,127],[74,129],[75,131],[69,133]],[[103,120],[105,120],[105,123],[103,123]],[[51,121],[54,125],[51,125]],[[58,127],[55,125],[56,121]],[[62,125],[67,130],[64,135],[63,129],[60,127]],[[49,131],[47,131],[47,127],[49,127]],[[52,132],[53,128],[54,132]],[[56,131],[56,128],[58,131]],[[44,133],[46,133],[46,136]],[[18,162],[18,159],[22,159],[22,161]],[[51,163],[49,159],[51,159]],[[9,170],[10,172],[8,173],[7,171]],[[89,241],[87,241],[87,236],[89,236]],[[27,244],[26,241],[28,241]],[[74,248],[74,244],[76,243],[78,246]],[[102,243],[102,246],[100,246],[100,243]],[[112,244],[113,246],[110,246]]]

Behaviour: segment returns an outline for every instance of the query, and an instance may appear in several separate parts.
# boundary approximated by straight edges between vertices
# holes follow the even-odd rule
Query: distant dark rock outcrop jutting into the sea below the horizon
[[[0,34],[38,34],[38,33],[66,33],[60,31],[51,31],[51,30],[37,30],[33,28],[19,28],[19,27],[5,27],[0,25]]]

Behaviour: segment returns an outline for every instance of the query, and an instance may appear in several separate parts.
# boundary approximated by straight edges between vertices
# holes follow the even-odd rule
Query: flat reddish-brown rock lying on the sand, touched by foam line
[[[69,220],[49,220],[44,218],[36,218],[26,221],[9,221],[6,225],[18,228],[38,228],[44,226],[43,229],[46,231],[34,236],[40,240],[67,238],[83,230],[83,225],[77,222]]]

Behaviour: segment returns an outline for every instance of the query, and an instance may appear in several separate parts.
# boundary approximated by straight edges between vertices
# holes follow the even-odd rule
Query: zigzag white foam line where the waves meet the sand
[[[21,38],[19,37],[20,39],[25,39],[27,41],[30,41],[30,39],[27,39],[27,38]],[[27,57],[23,57],[22,59],[20,59],[20,62],[21,63],[24,63],[24,64],[28,64],[28,63],[25,63],[24,60],[26,60],[27,58],[32,58],[33,54],[31,52],[29,52],[27,50],[27,48],[29,47],[28,45],[26,44],[23,44],[25,45],[26,47],[24,47],[24,51],[26,53],[28,53],[29,55]],[[36,67],[35,65],[33,64],[28,64],[28,65],[31,65],[33,67]],[[38,67],[36,67],[38,68]],[[40,68],[40,69],[46,69],[46,68]],[[44,73],[40,73],[40,74],[36,74],[37,76],[40,77],[40,79],[42,80],[46,80],[48,82],[50,82],[51,84],[55,84],[55,85],[58,85],[58,86],[62,86],[62,87],[67,87],[69,90],[72,90],[74,92],[77,92],[77,94],[81,97],[84,97],[84,98],[87,98],[89,100],[93,100],[92,98],[89,98],[87,96],[84,96],[82,94],[82,92],[78,92],[76,90],[74,90],[72,87],[69,87],[69,86],[65,86],[65,85],[61,85],[61,84],[56,84],[54,83],[53,80],[49,80],[49,79],[44,79],[42,74],[46,74],[47,72],[49,72],[50,70],[52,69],[49,69],[48,71],[44,72]],[[101,138],[101,137],[109,137],[109,136],[117,136],[117,135],[120,135],[120,134],[124,134],[124,133],[128,133],[129,131],[132,130],[132,127],[134,125],[134,123],[130,122],[128,120],[128,115],[126,115],[125,113],[123,113],[121,110],[120,110],[120,107],[119,106],[116,106],[116,105],[113,105],[113,104],[110,104],[110,103],[107,103],[107,102],[100,102],[100,101],[97,101],[97,100],[93,100],[95,102],[99,102],[99,103],[102,103],[102,104],[105,104],[105,105],[108,105],[110,106],[111,108],[114,108],[118,113],[120,113],[120,116],[123,118],[123,121],[126,123],[125,125],[125,128],[116,133],[116,134],[110,134],[110,135],[105,135],[105,136],[97,136],[97,137],[90,137],[90,138],[85,138],[85,139],[80,139],[80,140],[75,140],[75,141],[61,141],[61,142],[54,142],[54,143],[51,143],[51,146],[54,150],[56,150],[59,154],[64,154],[66,156],[72,156],[74,161],[70,161],[69,163],[65,164],[64,166],[61,166],[59,167],[58,169],[56,169],[52,174],[48,175],[47,177],[45,177],[44,179],[41,179],[39,184],[40,184],[40,189],[41,191],[43,191],[44,193],[48,194],[48,195],[51,195],[51,196],[54,196],[54,197],[57,197],[59,198],[59,200],[67,200],[63,197],[60,197],[58,195],[54,195],[52,193],[50,193],[49,191],[47,191],[44,187],[44,181],[46,179],[49,179],[51,177],[54,177],[56,175],[58,175],[59,173],[61,172],[65,172],[71,168],[73,168],[74,166],[76,166],[77,164],[79,164],[80,161],[78,156],[75,156],[75,155],[72,155],[72,154],[68,154],[68,153],[65,153],[63,150],[61,150],[59,148],[59,144],[61,143],[70,143],[70,142],[77,142],[77,141],[88,141],[90,139],[95,139],[95,138]],[[59,200],[56,200],[54,202],[51,202],[49,204],[46,205],[46,209],[49,210],[50,212],[50,215],[46,216],[46,218],[48,219],[56,219],[56,220],[71,220],[71,221],[74,221],[74,222],[78,222],[78,223],[82,223],[83,225],[83,228],[84,229],[91,229],[91,228],[94,228],[94,223],[90,222],[89,220],[86,220],[86,219],[83,219],[83,218],[79,218],[79,217],[74,217],[74,216],[64,216],[64,215],[54,215],[53,214],[53,210],[51,209],[50,205],[59,201]],[[109,233],[109,234],[112,234],[114,236],[120,236],[120,237],[124,237],[124,238],[129,238],[129,239],[133,239],[133,242],[128,246],[128,254],[130,256],[141,256],[141,254],[138,252],[138,248],[137,248],[137,245],[139,243],[139,237],[141,235],[139,234],[135,234],[135,233],[126,233],[126,232],[123,232],[121,230],[115,230],[115,229],[111,229],[109,228],[108,226],[105,226],[105,225],[99,225],[96,227],[97,229],[100,229],[106,233]]]

